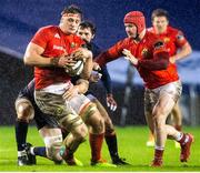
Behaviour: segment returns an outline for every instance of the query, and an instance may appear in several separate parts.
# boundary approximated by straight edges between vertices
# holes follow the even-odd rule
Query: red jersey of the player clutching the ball
[[[70,54],[84,42],[76,34],[66,34],[57,26],[48,26],[38,30],[31,40],[32,43],[44,49],[41,54],[46,58],[59,58]],[[50,84],[67,82],[70,77],[63,68],[46,67],[34,68],[36,89],[43,89]]]

